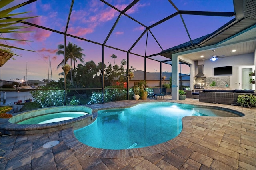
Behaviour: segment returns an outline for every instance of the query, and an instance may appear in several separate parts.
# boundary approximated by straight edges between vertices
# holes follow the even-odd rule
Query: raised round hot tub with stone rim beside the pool
[[[54,106],[18,112],[9,120],[1,119],[0,129],[4,134],[42,134],[70,127],[78,129],[94,120],[96,113],[86,106]]]

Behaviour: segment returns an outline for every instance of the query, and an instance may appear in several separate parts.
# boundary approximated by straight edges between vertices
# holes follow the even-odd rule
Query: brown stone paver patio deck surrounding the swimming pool
[[[6,158],[0,159],[0,170],[256,170],[256,108],[202,103],[198,99],[172,101],[170,97],[158,101],[220,106],[238,110],[245,116],[183,118],[181,134],[170,140],[169,145],[160,144],[158,151],[150,148],[148,153],[140,149],[118,153],[109,150],[104,156],[99,156],[102,154],[99,150],[83,152],[72,129],[2,136],[0,148],[5,152],[0,151],[0,156]],[[118,108],[152,100],[156,101],[128,100],[89,107]],[[60,143],[43,148],[53,140]],[[164,152],[160,152],[161,147]]]

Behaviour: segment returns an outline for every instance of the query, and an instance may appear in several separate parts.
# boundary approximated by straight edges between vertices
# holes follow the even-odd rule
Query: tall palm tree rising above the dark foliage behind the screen
[[[60,44],[58,45],[58,51],[56,52],[57,55],[64,55],[64,45]],[[81,53],[81,51],[83,51],[84,49],[82,49],[81,47],[78,47],[76,44],[70,43],[68,42],[68,46],[66,46],[66,56],[65,56],[65,61],[64,59],[62,60],[62,62],[57,66],[57,68],[59,68],[60,66],[63,66],[68,59],[70,59],[70,66],[71,66],[71,70],[70,70],[70,79],[71,79],[71,83],[73,83],[73,74],[72,74],[72,60],[75,62],[77,62],[77,60],[79,60],[81,63],[84,63],[84,58],[83,56],[85,56],[83,53]],[[74,64],[74,68],[75,68],[75,64]]]

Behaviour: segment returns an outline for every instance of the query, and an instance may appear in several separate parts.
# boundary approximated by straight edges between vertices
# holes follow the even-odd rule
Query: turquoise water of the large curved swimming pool
[[[101,110],[95,122],[74,131],[76,138],[95,148],[128,149],[160,144],[182,130],[184,116],[243,116],[225,110],[167,102]]]

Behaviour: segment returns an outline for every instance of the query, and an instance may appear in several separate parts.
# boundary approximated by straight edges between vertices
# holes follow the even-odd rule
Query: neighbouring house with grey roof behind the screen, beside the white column
[[[172,77],[172,73],[163,72],[162,76],[166,76],[166,79],[163,80],[162,77],[160,77],[160,72],[146,72],[147,85],[149,87],[160,87],[160,80],[162,80],[162,85],[168,84],[170,82],[170,77]],[[179,73],[179,77],[180,77],[179,84],[172,84],[172,85],[190,87],[190,75]],[[134,71],[134,78],[129,80],[129,87],[134,86],[134,84],[138,83],[140,80],[144,80],[144,71],[142,70]]]

